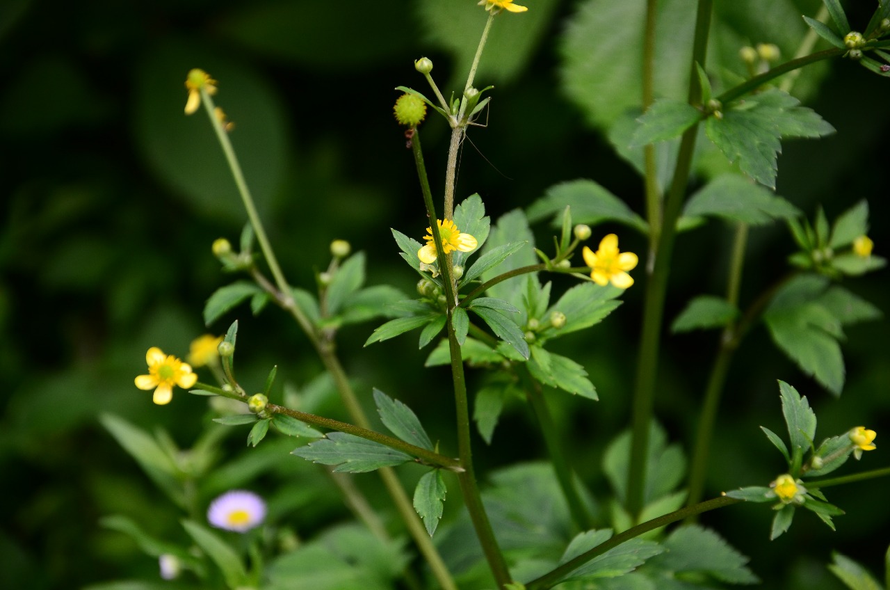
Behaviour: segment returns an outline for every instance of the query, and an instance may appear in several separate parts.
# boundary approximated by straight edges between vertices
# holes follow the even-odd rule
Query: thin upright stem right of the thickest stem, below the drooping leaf
[[[745,246],[748,243],[748,224],[740,223],[736,226],[735,238],[732,241],[732,256],[730,258],[729,278],[726,286],[726,300],[736,307],[739,304],[739,290],[741,285],[741,272],[744,266]],[[705,478],[708,474],[708,451],[711,439],[714,436],[714,424],[716,422],[717,409],[720,406],[720,397],[723,393],[726,373],[732,362],[732,355],[738,344],[735,341],[735,323],[724,328],[720,338],[720,347],[711,373],[708,377],[708,386],[705,389],[705,400],[701,407],[699,417],[699,429],[692,447],[692,465],[689,471],[689,498],[686,505],[697,504],[704,494]]]

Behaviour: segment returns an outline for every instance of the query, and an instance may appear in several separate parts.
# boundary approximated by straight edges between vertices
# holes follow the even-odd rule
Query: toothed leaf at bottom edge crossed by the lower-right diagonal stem
[[[578,557],[578,555],[593,549],[595,546],[602,545],[611,536],[612,532],[609,529],[588,530],[578,534],[571,540],[565,553],[562,554],[560,563],[570,561]],[[645,541],[640,538],[630,539],[602,555],[597,555],[593,560],[578,568],[578,570],[574,570],[568,576],[562,578],[561,581],[617,578],[635,570],[643,565],[647,559],[663,551],[664,549],[654,541]]]

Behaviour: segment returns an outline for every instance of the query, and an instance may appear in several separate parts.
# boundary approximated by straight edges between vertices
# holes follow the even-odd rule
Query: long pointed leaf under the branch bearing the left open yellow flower
[[[291,455],[303,457],[313,463],[336,465],[334,471],[363,473],[381,467],[392,467],[413,460],[414,457],[373,440],[356,437],[345,432],[328,432],[305,447],[298,447]]]

